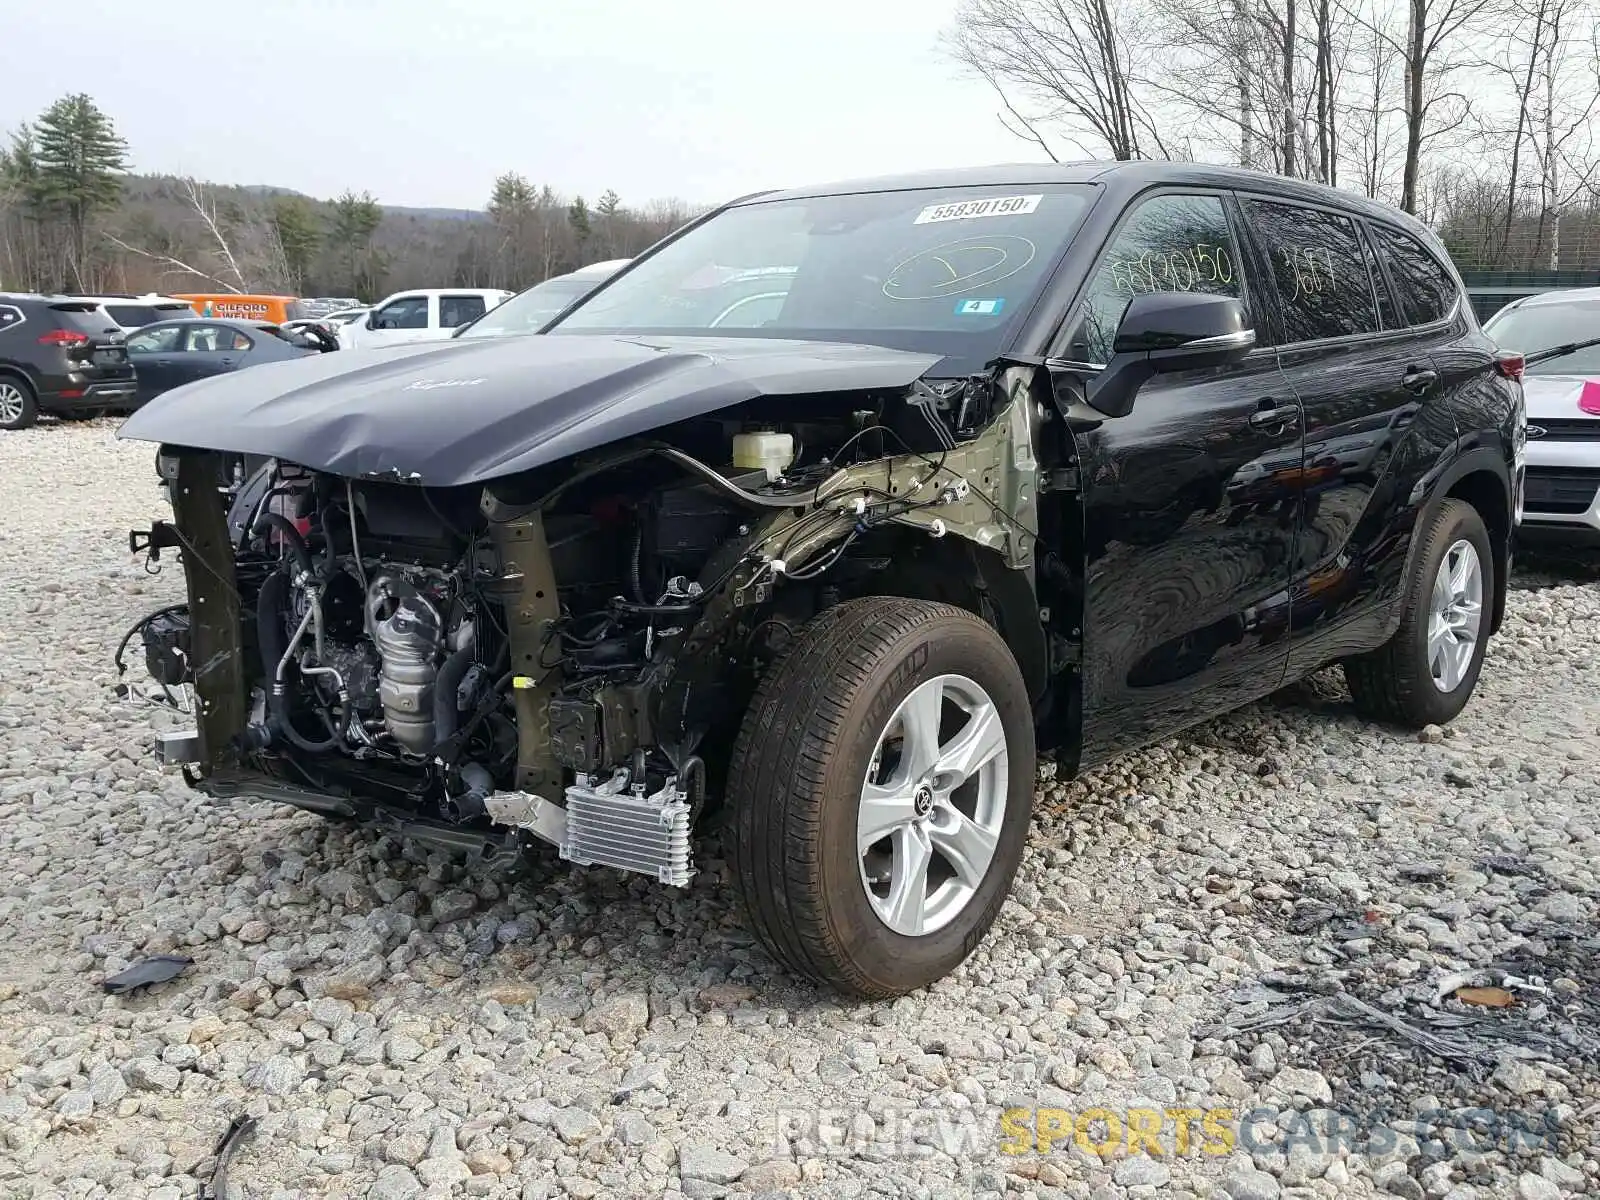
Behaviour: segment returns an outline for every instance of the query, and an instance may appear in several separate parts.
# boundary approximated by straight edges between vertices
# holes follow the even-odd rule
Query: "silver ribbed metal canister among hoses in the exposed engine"
[[[397,574],[381,574],[366,589],[366,629],[382,669],[378,698],[389,734],[411,754],[434,749],[434,682],[445,622],[434,603]]]

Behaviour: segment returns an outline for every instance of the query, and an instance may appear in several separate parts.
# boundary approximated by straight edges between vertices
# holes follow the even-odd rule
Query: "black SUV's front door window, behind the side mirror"
[[[1096,267],[1062,357],[1109,362],[1117,326],[1134,296],[1187,291],[1243,301],[1243,274],[1222,197],[1146,200],[1123,221]]]

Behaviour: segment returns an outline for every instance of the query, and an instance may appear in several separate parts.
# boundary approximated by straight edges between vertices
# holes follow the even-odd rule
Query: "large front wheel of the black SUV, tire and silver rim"
[[[941,750],[976,736],[979,726],[954,722],[965,710],[968,720],[982,714],[981,728],[990,733],[989,722],[998,723],[1003,757],[995,754],[954,792],[947,789],[958,771],[910,771],[912,758],[926,762],[914,746],[930,742],[896,744],[891,733],[910,728],[901,706],[914,691],[941,698],[922,706],[949,722],[933,738]],[[987,709],[978,707],[984,699]],[[910,822],[862,854],[858,821],[869,768],[885,784],[880,811],[904,813]],[[907,774],[931,787],[902,782]],[[728,768],[731,861],[752,931],[795,974],[851,997],[902,995],[949,974],[976,949],[1011,888],[1027,840],[1034,774],[1027,686],[989,624],[960,608],[899,597],[827,610],[762,680]],[[982,850],[954,838],[957,830],[987,830],[979,842],[994,850],[981,872]],[[923,859],[920,893],[912,886],[896,893],[893,880],[918,878],[901,869],[917,858],[914,842],[920,853],[930,845],[936,853]],[[944,858],[946,846],[960,845],[973,851],[965,880]],[[874,864],[872,885],[864,859]],[[912,899],[893,907],[896,898]],[[891,926],[893,918],[912,930],[907,914],[918,907],[922,933]]]

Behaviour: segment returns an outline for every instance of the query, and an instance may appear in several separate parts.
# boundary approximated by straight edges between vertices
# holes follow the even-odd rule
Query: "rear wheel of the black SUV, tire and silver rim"
[[[1470,549],[1477,565],[1475,618],[1469,616],[1467,606],[1451,605],[1448,619],[1435,621],[1435,602],[1450,590],[1446,579],[1459,576],[1464,562],[1470,565],[1466,549]],[[1446,558],[1451,560],[1454,574],[1442,579]],[[1378,650],[1344,661],[1344,678],[1357,712],[1413,730],[1454,720],[1470,699],[1483,669],[1494,587],[1494,555],[1483,518],[1466,501],[1442,501],[1422,526],[1411,578],[1405,582],[1405,613],[1395,635]],[[1470,605],[1472,587],[1462,590]],[[1453,590],[1450,594],[1454,595]],[[1442,637],[1430,650],[1429,637],[1435,627]],[[1462,650],[1459,634],[1467,629],[1472,635],[1470,648]],[[1453,664],[1446,664],[1437,653],[1442,646]],[[1440,670],[1442,666],[1446,669]]]

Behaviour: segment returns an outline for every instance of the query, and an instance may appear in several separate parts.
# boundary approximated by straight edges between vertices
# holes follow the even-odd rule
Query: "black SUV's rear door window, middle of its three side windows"
[[[1245,216],[1272,262],[1285,342],[1378,331],[1378,298],[1355,221],[1272,200],[1246,200]]]

